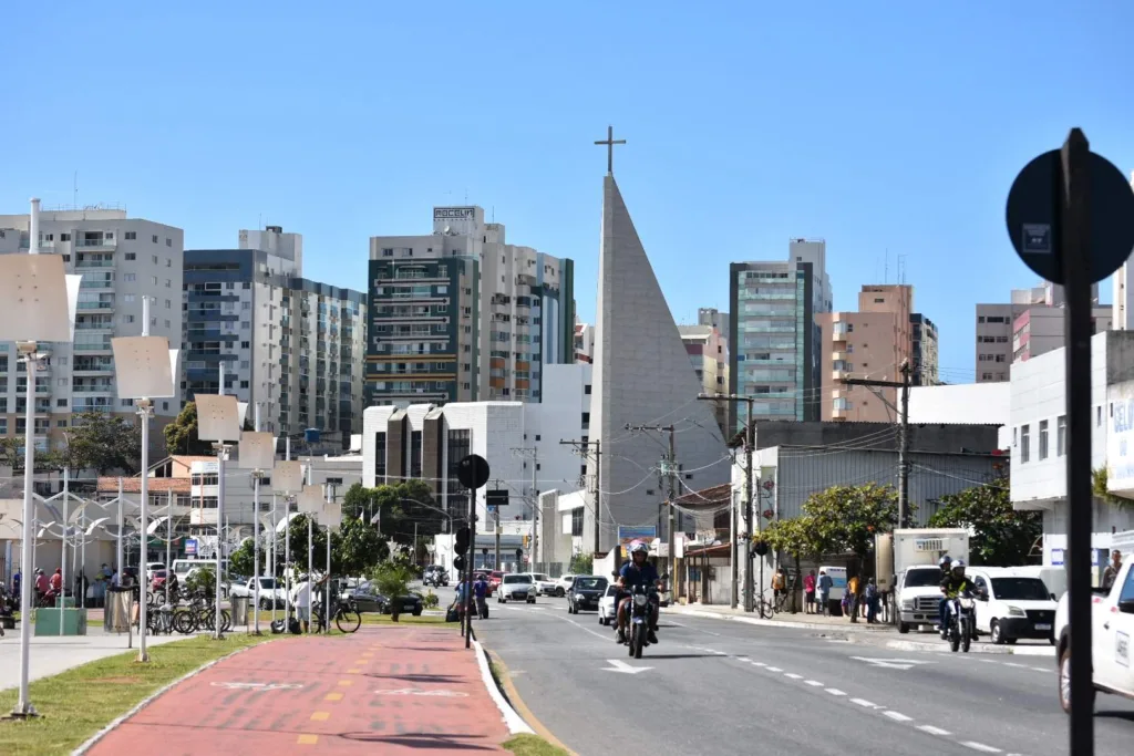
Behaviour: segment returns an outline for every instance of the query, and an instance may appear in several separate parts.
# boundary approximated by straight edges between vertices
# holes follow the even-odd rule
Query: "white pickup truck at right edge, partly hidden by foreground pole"
[[[1125,535],[1125,534],[1123,534]],[[1134,534],[1132,534],[1134,535]],[[1117,544],[1116,544],[1117,545]],[[1123,567],[1109,592],[1091,597],[1091,628],[1094,690],[1134,699],[1134,668],[1131,666],[1131,637],[1134,637],[1134,550],[1123,551]],[[1070,625],[1067,597],[1056,610],[1057,659],[1059,660],[1059,704],[1070,712]],[[1093,698],[1093,691],[1092,691]],[[1093,708],[1093,700],[1092,700]]]

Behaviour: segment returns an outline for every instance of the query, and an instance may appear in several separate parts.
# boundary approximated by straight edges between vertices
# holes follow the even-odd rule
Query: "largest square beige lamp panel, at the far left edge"
[[[76,300],[78,287],[75,287]],[[74,312],[61,255],[0,255],[0,341],[70,341]]]

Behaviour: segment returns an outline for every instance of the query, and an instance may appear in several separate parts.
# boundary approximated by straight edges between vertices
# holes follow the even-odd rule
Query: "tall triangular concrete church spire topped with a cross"
[[[676,427],[678,495],[727,483],[730,466],[711,402],[697,401],[700,379],[666,304],[653,266],[611,171],[616,142],[609,130],[603,179],[602,243],[591,397],[591,441],[601,441],[599,481],[600,551],[617,543],[618,525],[657,525],[668,486],[659,483],[668,440],[632,433],[627,426]],[[590,479],[596,460],[587,464]],[[587,508],[583,543],[594,543],[594,513]],[[658,536],[667,536],[666,521]],[[680,526],[678,526],[680,530]]]

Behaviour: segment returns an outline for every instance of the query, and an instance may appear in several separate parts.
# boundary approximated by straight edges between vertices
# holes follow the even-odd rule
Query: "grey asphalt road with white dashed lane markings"
[[[662,643],[635,661],[595,614],[569,615],[557,598],[492,604],[474,627],[532,713],[578,754],[629,731],[638,750],[699,756],[1067,753],[1046,659],[895,652],[682,617],[663,618]],[[624,666],[644,671],[611,671]],[[1097,753],[1128,754],[1134,705],[1100,696],[1098,711]]]

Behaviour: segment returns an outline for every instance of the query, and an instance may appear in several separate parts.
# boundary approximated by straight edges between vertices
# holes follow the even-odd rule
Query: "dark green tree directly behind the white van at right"
[[[1010,567],[1026,564],[1036,538],[1043,534],[1041,512],[1012,508],[1008,478],[941,496],[930,527],[962,527],[973,532],[968,553],[974,564]]]

